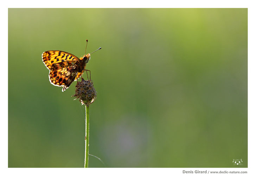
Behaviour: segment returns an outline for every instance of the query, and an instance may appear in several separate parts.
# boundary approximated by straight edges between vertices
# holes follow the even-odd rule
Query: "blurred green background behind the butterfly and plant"
[[[85,39],[106,167],[247,167],[245,8],[9,9],[8,167],[84,166],[76,82],[51,85],[41,54],[81,57]]]

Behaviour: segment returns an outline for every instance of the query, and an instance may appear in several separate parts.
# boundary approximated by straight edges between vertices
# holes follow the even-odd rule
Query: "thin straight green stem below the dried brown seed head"
[[[85,154],[84,167],[88,168],[89,160],[89,106],[85,105]]]

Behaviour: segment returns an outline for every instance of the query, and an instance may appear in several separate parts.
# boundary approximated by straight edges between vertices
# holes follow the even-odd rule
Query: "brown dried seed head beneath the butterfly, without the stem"
[[[76,99],[79,98],[79,101],[82,103],[82,105],[85,104],[86,106],[89,106],[92,104],[97,97],[97,92],[93,87],[93,81],[84,80],[82,78],[81,82],[77,82],[76,92],[71,97],[76,97]]]

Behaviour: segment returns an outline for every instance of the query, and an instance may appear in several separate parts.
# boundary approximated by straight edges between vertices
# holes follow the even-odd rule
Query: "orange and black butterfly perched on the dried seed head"
[[[88,43],[88,40],[86,40]],[[86,52],[87,44],[85,47]],[[98,48],[97,50],[100,50]],[[96,51],[97,51],[96,50]],[[94,51],[95,52],[95,51]],[[92,53],[94,53],[92,52]],[[50,83],[63,87],[62,92],[69,88],[73,81],[77,81],[82,77],[86,70],[86,64],[90,60],[91,53],[85,54],[83,57],[76,57],[75,55],[59,50],[49,50],[42,54],[42,60],[49,72]]]

